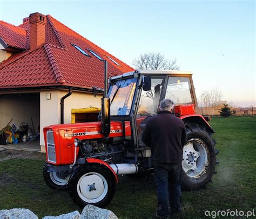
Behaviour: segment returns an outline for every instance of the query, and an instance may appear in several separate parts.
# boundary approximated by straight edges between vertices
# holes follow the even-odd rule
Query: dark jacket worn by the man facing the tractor
[[[151,157],[160,163],[181,163],[186,143],[183,121],[170,111],[160,111],[146,123],[142,141],[151,147]]]

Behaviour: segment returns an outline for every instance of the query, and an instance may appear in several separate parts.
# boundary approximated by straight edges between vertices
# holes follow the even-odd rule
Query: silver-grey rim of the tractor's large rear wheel
[[[183,147],[183,171],[187,176],[198,179],[208,168],[209,151],[203,140],[192,138]]]

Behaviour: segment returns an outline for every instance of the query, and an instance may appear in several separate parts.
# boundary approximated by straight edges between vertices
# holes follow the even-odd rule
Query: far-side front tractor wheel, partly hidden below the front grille
[[[70,174],[66,172],[48,172],[47,164],[44,165],[43,176],[46,185],[51,189],[64,190],[68,188]]]

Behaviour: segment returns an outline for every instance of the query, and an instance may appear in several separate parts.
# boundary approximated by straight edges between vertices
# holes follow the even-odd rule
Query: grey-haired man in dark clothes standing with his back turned
[[[173,101],[162,100],[158,115],[149,119],[142,134],[142,141],[151,147],[159,218],[170,216],[169,206],[171,214],[181,211],[181,162],[187,136],[183,121],[172,115],[173,107]]]

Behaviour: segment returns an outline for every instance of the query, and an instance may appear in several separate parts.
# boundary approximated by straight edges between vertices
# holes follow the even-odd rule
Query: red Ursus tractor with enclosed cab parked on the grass
[[[192,73],[136,70],[110,78],[107,91],[106,69],[105,61],[105,94],[98,121],[44,128],[46,184],[68,189],[80,207],[104,207],[113,198],[118,175],[152,173],[151,150],[141,136],[164,98],[176,103],[173,114],[183,120],[187,130],[182,188],[196,190],[211,181],[218,151],[213,129],[203,116],[195,114]]]

